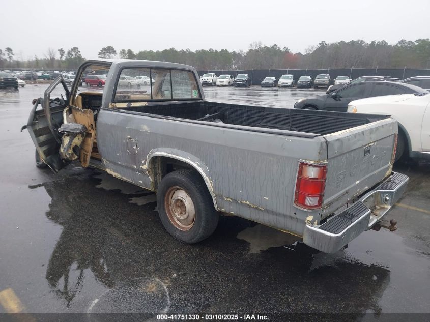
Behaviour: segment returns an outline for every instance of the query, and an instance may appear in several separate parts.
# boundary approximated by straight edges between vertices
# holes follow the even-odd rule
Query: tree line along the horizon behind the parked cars
[[[58,55],[58,56],[57,56]],[[164,49],[140,50],[106,46],[98,52],[99,58],[128,58],[182,63],[197,70],[247,70],[247,69],[338,69],[338,68],[429,68],[430,40],[402,39],[396,44],[385,40],[351,40],[308,47],[304,53],[293,53],[288,47],[253,42],[247,51],[227,49]],[[0,68],[77,68],[85,58],[78,47],[65,51],[48,48],[43,58],[34,56],[28,61],[16,60],[13,50],[0,50]]]

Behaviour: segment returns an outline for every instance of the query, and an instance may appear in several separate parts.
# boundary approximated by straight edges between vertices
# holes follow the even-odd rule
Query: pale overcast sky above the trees
[[[87,59],[108,45],[137,53],[247,50],[261,41],[304,52],[321,41],[429,38],[429,13],[430,0],[4,1],[0,49],[24,60],[73,46]]]

